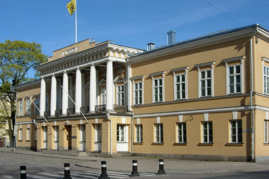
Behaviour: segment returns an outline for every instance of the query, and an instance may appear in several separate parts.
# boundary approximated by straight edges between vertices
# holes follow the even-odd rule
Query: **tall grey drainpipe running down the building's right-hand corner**
[[[250,75],[251,75],[251,91],[250,91],[250,109],[251,109],[251,160],[254,159],[254,109],[252,102],[253,93],[253,54],[252,54],[252,38],[258,31],[259,24],[255,24],[256,30],[250,38]]]

